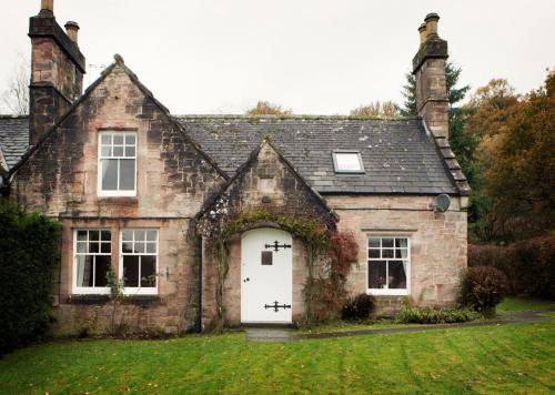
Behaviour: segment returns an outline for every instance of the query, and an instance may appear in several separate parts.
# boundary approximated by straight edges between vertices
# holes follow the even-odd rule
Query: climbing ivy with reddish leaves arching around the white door
[[[230,269],[229,242],[234,234],[263,226],[286,231],[303,243],[309,272],[304,290],[307,323],[326,320],[339,312],[346,297],[346,276],[351,265],[356,262],[357,245],[352,233],[335,232],[324,222],[307,215],[256,211],[229,217],[225,210],[215,210],[219,212],[212,211],[211,214],[220,214],[220,226],[211,227],[204,235],[216,269],[216,326],[222,326],[225,320],[223,284]]]

